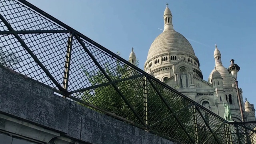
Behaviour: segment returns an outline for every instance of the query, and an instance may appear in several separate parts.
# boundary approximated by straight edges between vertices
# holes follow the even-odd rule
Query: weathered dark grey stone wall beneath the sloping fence
[[[0,67],[0,142],[3,140],[4,144],[174,144]]]

